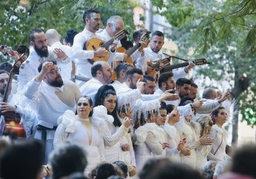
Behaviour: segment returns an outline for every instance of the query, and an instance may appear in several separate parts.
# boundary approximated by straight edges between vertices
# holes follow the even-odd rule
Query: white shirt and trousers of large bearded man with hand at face
[[[46,130],[45,161],[48,159],[47,155],[53,149],[53,138],[55,136],[54,128],[57,127],[57,118],[66,110],[75,110],[75,106],[70,107],[62,102],[56,92],[62,92],[64,94],[63,98],[66,101],[73,102],[73,104],[76,103],[76,99],[81,95],[76,84],[70,80],[64,80],[62,87],[52,87],[44,81],[38,83],[34,79],[28,84],[24,94],[28,99],[35,101],[38,124],[49,128],[49,130]],[[36,130],[34,138],[42,139],[42,131]]]

